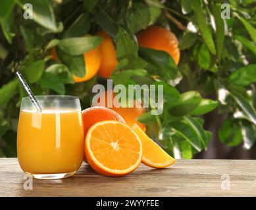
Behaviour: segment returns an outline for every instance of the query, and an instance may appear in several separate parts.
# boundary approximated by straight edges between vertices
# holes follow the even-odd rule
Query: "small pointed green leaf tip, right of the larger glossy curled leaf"
[[[212,110],[215,110],[218,106],[217,100],[211,100],[211,99],[202,99],[199,106],[195,108],[195,110],[192,111],[192,116],[201,116],[203,114],[206,114],[208,112],[211,112]]]

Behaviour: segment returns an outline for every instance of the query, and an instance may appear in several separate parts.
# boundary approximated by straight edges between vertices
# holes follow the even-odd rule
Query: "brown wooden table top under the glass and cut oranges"
[[[226,177],[230,190],[221,188]],[[256,161],[180,159],[166,169],[141,164],[118,178],[98,175],[84,163],[67,179],[33,179],[33,190],[24,190],[25,181],[16,158],[0,158],[0,196],[256,196]]]

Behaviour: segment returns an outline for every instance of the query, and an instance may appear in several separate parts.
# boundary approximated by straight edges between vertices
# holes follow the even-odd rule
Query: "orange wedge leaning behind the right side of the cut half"
[[[161,146],[151,138],[147,137],[144,131],[136,123],[134,123],[132,129],[134,129],[142,143],[142,163],[154,168],[165,168],[176,162],[176,159],[169,156]]]

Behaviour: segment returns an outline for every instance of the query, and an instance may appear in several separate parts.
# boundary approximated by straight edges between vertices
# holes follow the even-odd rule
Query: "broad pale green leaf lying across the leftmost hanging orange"
[[[75,37],[61,39],[58,47],[62,49],[65,53],[71,55],[80,55],[95,49],[100,43],[102,38],[91,36],[91,37]]]

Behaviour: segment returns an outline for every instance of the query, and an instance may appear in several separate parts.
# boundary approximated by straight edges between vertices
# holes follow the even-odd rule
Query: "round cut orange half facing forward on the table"
[[[86,159],[102,175],[120,177],[134,171],[141,163],[140,138],[119,121],[99,121],[86,134]]]

